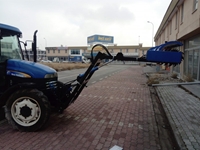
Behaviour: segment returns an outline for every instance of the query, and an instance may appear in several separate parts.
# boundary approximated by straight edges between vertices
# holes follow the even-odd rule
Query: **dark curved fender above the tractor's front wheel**
[[[2,95],[0,95],[0,107],[4,106],[6,104],[7,99],[13,92],[16,92],[19,89],[36,88],[36,87],[37,87],[37,85],[32,82],[31,83],[18,83],[14,86],[11,86]]]

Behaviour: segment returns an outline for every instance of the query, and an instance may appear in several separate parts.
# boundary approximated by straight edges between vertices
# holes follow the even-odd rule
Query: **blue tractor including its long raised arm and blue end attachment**
[[[97,44],[91,50],[91,64],[86,72],[78,75],[75,80],[62,83],[58,81],[57,72],[54,69],[36,62],[36,33],[37,31],[32,41],[34,62],[31,62],[25,60],[22,52],[19,41],[22,32],[16,27],[0,24],[0,107],[4,107],[8,123],[14,129],[24,132],[37,131],[44,127],[52,109],[63,112],[77,99],[93,73],[113,60],[172,64],[181,62],[182,53],[179,51],[169,51],[169,53],[166,51],[169,54],[166,56],[169,58],[165,58],[164,61],[160,59],[160,57],[165,57],[162,50],[152,50],[149,57],[147,53],[145,58],[125,58],[122,53],[113,57],[105,46]],[[170,44],[171,47],[172,45]],[[94,55],[93,49],[97,46],[101,46],[106,53],[98,52]],[[156,57],[157,54],[159,54],[158,57]],[[176,56],[173,61],[170,61],[171,55],[174,54]],[[102,61],[103,59],[110,61],[105,62]]]

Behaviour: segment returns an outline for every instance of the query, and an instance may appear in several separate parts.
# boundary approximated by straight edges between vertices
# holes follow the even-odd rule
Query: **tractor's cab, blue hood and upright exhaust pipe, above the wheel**
[[[32,42],[34,60],[37,59],[35,34]],[[24,60],[19,41],[21,36],[22,32],[18,28],[0,24],[0,96],[19,83],[41,83],[41,81],[57,80],[57,72],[54,69]]]

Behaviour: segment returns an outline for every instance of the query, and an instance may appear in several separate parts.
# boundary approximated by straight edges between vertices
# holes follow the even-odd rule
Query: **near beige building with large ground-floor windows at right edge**
[[[156,45],[178,40],[184,44],[181,65],[171,68],[181,78],[200,80],[200,9],[198,0],[172,0],[154,37]]]

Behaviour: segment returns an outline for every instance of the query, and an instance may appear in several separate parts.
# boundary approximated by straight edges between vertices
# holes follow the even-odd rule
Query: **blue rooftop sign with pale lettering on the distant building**
[[[87,38],[87,43],[114,43],[114,37],[105,35],[92,35]]]

